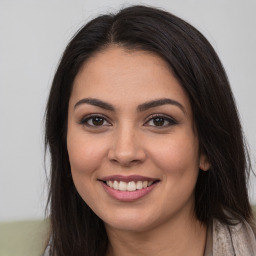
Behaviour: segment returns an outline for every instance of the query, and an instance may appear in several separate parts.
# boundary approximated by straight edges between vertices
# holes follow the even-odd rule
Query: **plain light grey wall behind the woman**
[[[181,16],[210,40],[228,73],[255,156],[256,1],[0,0],[0,221],[43,216],[44,107],[68,40],[97,14],[138,3]],[[250,194],[256,203],[256,189]]]

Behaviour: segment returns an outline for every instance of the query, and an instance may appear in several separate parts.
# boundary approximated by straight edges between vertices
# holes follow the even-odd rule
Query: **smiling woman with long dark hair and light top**
[[[133,6],[67,46],[46,111],[45,255],[256,255],[225,71],[185,21]]]

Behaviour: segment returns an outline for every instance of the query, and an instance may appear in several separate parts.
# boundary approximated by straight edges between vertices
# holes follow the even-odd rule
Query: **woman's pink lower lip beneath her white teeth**
[[[157,182],[158,183],[158,182]],[[150,193],[157,185],[157,183],[152,184],[149,187],[138,189],[135,191],[121,191],[121,190],[115,190],[105,183],[102,182],[103,188],[105,191],[114,199],[124,202],[131,202],[138,200],[144,196],[146,196],[148,193]]]

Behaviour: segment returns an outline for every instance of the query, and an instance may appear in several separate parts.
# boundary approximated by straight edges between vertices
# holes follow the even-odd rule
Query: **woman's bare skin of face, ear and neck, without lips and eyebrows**
[[[114,110],[81,103],[85,98]],[[180,106],[137,109],[163,98]],[[104,118],[88,117],[95,114]],[[199,167],[207,170],[209,163],[199,153],[188,96],[163,59],[118,46],[91,57],[74,81],[67,147],[77,191],[105,223],[108,255],[203,255],[206,227],[194,214],[194,188]],[[159,182],[139,200],[123,202],[99,181],[109,175]]]

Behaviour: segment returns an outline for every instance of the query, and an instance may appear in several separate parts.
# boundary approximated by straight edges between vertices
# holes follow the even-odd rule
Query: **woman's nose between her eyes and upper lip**
[[[113,135],[108,159],[123,167],[138,165],[145,161],[146,152],[143,143],[133,127],[117,129]]]

